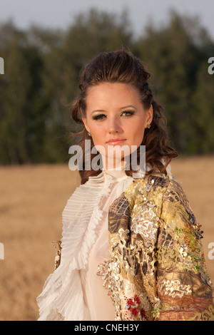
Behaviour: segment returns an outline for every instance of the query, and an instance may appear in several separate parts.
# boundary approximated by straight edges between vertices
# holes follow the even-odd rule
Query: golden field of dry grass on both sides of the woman
[[[205,258],[214,283],[214,259],[208,259],[208,244],[214,242],[214,158],[177,158],[171,167],[203,225]],[[68,165],[1,167],[0,180],[0,321],[36,320],[36,297],[54,269],[51,242],[61,238],[61,213],[80,180]]]

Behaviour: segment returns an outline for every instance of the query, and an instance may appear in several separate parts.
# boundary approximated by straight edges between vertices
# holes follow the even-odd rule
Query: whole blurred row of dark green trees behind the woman
[[[75,142],[68,105],[81,68],[102,51],[134,53],[151,73],[165,110],[170,144],[180,155],[214,151],[214,42],[198,19],[170,12],[165,26],[135,36],[126,11],[91,9],[67,29],[0,24],[0,164],[65,163]]]

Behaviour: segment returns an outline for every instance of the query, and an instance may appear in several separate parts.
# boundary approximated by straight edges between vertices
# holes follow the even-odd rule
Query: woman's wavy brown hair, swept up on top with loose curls
[[[153,106],[153,120],[151,128],[146,128],[141,145],[146,145],[146,163],[149,163],[151,170],[147,173],[159,170],[166,174],[166,167],[172,158],[177,157],[177,153],[168,145],[168,135],[163,128],[166,124],[163,108],[153,98],[153,93],[148,85],[150,73],[146,71],[143,63],[133,56],[132,53],[125,50],[101,53],[94,58],[83,69],[80,76],[80,95],[72,105],[71,117],[76,123],[83,124],[82,117],[86,117],[86,95],[88,88],[96,86],[99,83],[127,83],[138,89],[141,96],[141,102],[144,108],[148,109]],[[161,125],[163,123],[163,125]],[[86,128],[78,133],[81,135],[80,142],[83,149],[83,157],[85,155],[85,140],[91,139],[91,148],[93,148],[93,140],[89,137]],[[91,160],[98,154],[91,154]],[[164,158],[165,163],[161,163]],[[139,157],[138,157],[139,159]],[[81,183],[88,180],[89,176],[98,175],[101,170],[79,170],[81,175]],[[133,170],[126,170],[126,175],[132,175]]]

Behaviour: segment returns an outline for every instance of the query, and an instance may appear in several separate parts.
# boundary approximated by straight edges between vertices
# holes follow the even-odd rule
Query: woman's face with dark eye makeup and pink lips
[[[152,106],[145,110],[136,88],[126,83],[100,83],[88,89],[83,123],[103,158],[109,158],[111,148],[126,148],[124,153],[120,150],[122,160],[127,148],[130,153],[138,148],[152,118]]]

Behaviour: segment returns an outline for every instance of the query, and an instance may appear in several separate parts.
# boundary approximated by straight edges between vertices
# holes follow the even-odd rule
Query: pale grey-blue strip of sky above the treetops
[[[0,0],[0,22],[10,18],[24,29],[31,23],[66,29],[76,14],[91,7],[116,14],[126,7],[135,33],[143,31],[148,21],[167,23],[169,9],[176,9],[198,16],[214,39],[214,0]]]

